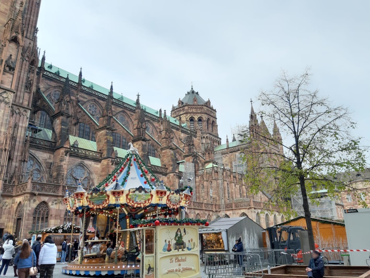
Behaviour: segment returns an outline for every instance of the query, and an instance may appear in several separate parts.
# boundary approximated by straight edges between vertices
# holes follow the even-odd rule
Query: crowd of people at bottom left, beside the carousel
[[[36,278],[36,274],[40,274],[40,278],[53,278],[58,251],[51,236],[46,236],[43,243],[41,236],[38,236],[32,246],[31,238],[19,240],[15,233],[6,233],[2,239],[4,243],[0,247],[1,276],[6,275],[13,260],[14,277],[27,278],[30,276],[30,269],[36,268],[37,273],[31,275],[31,278]]]

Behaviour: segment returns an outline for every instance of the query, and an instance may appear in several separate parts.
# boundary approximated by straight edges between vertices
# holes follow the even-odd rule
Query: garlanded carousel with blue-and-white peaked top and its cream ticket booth
[[[66,189],[63,203],[73,218],[80,218],[81,233],[78,257],[63,273],[201,277],[198,228],[208,222],[184,218],[191,196],[189,186],[169,189],[131,144],[97,187],[85,191],[79,183],[74,193]],[[90,225],[94,236],[87,234]]]

